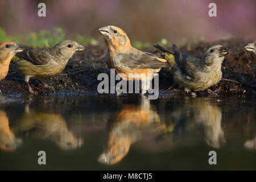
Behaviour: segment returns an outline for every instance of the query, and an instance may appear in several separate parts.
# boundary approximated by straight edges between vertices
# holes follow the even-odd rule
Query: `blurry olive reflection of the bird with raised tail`
[[[225,143],[221,118],[220,107],[210,100],[205,98],[185,100],[171,114],[171,121],[175,123],[173,139],[176,141],[183,134],[199,130],[209,146],[220,148]]]

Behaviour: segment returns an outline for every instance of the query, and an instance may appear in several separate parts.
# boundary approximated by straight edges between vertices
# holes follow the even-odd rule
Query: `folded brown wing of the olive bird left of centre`
[[[21,59],[30,61],[34,65],[46,65],[52,60],[52,55],[49,49],[30,49],[23,52],[16,53]]]

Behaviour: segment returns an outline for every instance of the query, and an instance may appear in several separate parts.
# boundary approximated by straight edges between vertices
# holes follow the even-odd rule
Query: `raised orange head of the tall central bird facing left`
[[[126,35],[125,31],[115,26],[105,26],[98,29],[100,34],[104,36],[105,42],[108,47],[114,49],[122,49],[130,47],[130,39]]]

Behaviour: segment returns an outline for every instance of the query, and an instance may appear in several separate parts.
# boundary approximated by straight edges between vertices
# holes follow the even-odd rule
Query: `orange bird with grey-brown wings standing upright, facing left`
[[[104,36],[108,46],[108,53],[105,56],[108,67],[115,69],[118,74],[123,73],[119,75],[123,80],[151,81],[154,73],[158,73],[162,67],[169,65],[166,59],[132,47],[128,36],[121,28],[106,26],[99,28],[98,31]],[[129,77],[129,73],[138,75]],[[141,73],[146,76],[139,75]],[[150,85],[142,90],[142,94],[145,94],[148,89]]]

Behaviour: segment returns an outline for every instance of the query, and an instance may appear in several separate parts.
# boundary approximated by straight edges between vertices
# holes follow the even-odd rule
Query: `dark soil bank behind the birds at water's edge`
[[[250,53],[246,52],[243,48],[253,41],[253,39],[220,40],[218,42],[192,44],[189,51],[186,47],[181,47],[180,50],[188,52],[191,56],[201,57],[204,51],[214,44],[228,47],[230,53],[225,57],[222,64],[222,77],[233,81],[221,80],[210,89],[215,90],[221,96],[234,94],[244,96],[245,94],[256,93],[256,60],[253,60]],[[167,47],[166,49],[172,51],[172,47]],[[154,47],[144,49],[144,51],[160,55]],[[76,53],[69,60],[67,67],[61,75],[42,81],[53,86],[55,94],[98,94],[97,85],[100,82],[97,81],[98,74],[108,73],[110,75],[110,71],[105,64],[105,53],[105,44],[88,46],[86,52]],[[40,87],[37,80],[31,79],[30,83],[42,90],[40,94],[53,93]],[[15,64],[13,63],[10,64],[10,71],[7,77],[0,81],[0,89],[2,90],[2,95],[23,96],[30,94],[24,83],[23,76],[16,71]],[[159,90],[160,96],[186,95],[183,89],[175,84],[168,68],[163,68],[159,73]],[[197,96],[204,95],[207,96],[207,92],[197,92]]]

